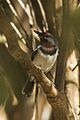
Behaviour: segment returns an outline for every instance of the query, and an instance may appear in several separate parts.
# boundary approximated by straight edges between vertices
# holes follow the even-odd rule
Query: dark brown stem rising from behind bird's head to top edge
[[[45,15],[46,15],[46,20],[48,23],[48,28],[49,31],[53,34],[56,35],[56,29],[55,29],[55,0],[41,0]]]

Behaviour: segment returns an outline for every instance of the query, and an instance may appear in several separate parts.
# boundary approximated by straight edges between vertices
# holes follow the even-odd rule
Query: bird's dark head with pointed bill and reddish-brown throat
[[[42,46],[42,51],[47,54],[55,54],[58,49],[57,39],[49,32],[38,32],[35,31],[40,37],[40,44]]]

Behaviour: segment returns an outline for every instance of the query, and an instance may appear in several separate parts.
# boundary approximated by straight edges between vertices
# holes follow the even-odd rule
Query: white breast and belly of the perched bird
[[[42,69],[44,72],[50,71],[50,69],[54,66],[56,59],[58,56],[58,50],[55,55],[44,55],[40,50],[34,59],[33,63],[35,66]]]

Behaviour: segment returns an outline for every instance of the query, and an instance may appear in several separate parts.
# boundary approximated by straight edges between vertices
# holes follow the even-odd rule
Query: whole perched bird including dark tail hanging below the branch
[[[57,61],[59,53],[58,40],[50,32],[34,32],[39,36],[40,43],[32,52],[31,60],[37,68],[47,74]],[[31,96],[35,84],[34,80],[34,77],[29,75],[29,79],[22,90],[23,94]],[[37,81],[36,88],[38,90]]]

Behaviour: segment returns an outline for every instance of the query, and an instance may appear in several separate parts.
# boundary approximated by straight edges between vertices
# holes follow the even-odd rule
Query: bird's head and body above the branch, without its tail
[[[31,60],[36,67],[47,73],[57,60],[59,52],[58,41],[49,32],[35,32],[40,37],[40,45],[32,53]]]

